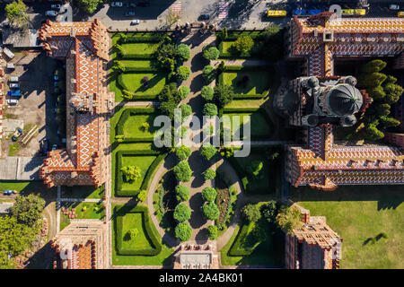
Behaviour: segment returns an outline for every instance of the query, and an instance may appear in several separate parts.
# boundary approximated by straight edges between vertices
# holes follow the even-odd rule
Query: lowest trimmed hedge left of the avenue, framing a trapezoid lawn
[[[160,252],[162,252],[162,243],[159,239],[159,236],[154,231],[154,226],[152,226],[153,222],[150,220],[149,209],[145,205],[136,205],[133,209],[131,209],[128,213],[143,213],[144,227],[145,227],[145,237],[151,241],[151,245],[154,248],[140,249],[140,250],[128,250],[122,248],[122,239],[124,234],[122,234],[123,230],[123,216],[125,214],[120,214],[120,210],[122,208],[117,208],[115,206],[114,213],[117,215],[116,217],[116,248],[117,253],[119,255],[137,255],[137,256],[156,256]],[[122,211],[123,213],[123,211]]]

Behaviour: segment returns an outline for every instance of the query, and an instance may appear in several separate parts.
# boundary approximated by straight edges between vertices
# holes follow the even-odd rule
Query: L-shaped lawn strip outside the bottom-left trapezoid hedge
[[[115,211],[115,206],[122,206],[118,204],[112,204],[112,210]],[[127,213],[128,214],[128,213]],[[124,215],[127,216],[127,214]],[[112,246],[116,247],[116,220],[112,221]],[[158,234],[155,227],[152,226],[154,232]],[[140,231],[140,230],[139,230]],[[162,252],[156,256],[120,256],[117,254],[117,248],[112,248],[112,265],[171,265],[172,253],[174,249],[167,247],[162,243]]]

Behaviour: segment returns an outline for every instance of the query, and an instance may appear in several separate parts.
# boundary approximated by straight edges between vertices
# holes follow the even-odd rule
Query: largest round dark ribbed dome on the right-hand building
[[[356,87],[340,83],[333,87],[328,95],[329,110],[338,116],[350,116],[361,109],[364,99]]]

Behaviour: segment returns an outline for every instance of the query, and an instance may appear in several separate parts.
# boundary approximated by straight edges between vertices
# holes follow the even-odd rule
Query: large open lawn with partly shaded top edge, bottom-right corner
[[[326,216],[329,227],[344,240],[341,268],[404,268],[403,186],[341,186],[332,192],[291,189],[294,201],[312,216]],[[378,237],[381,232],[388,239]],[[370,238],[377,241],[373,244]]]

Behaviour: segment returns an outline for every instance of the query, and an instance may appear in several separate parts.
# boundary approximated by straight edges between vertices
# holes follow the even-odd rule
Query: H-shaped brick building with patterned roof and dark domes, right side
[[[294,185],[334,190],[338,185],[404,184],[400,147],[339,146],[333,126],[352,126],[372,100],[356,79],[334,75],[335,57],[397,56],[404,50],[404,20],[337,19],[334,13],[294,17],[288,28],[290,59],[304,59],[311,77],[291,81],[275,106],[300,126],[302,145],[287,147],[286,178]],[[287,99],[287,100],[285,100]]]

